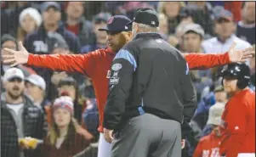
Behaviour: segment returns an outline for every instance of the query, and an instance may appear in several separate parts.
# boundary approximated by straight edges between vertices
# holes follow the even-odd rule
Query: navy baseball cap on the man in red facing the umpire
[[[112,16],[105,28],[100,28],[99,31],[132,31],[132,20],[123,15]]]

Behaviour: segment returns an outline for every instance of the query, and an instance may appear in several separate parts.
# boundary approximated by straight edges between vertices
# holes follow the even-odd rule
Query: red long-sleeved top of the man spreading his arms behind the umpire
[[[103,114],[108,95],[109,75],[115,55],[116,53],[113,53],[111,48],[98,49],[86,54],[29,54],[27,64],[50,70],[77,71],[90,77],[94,85],[100,114],[98,130],[103,132]],[[230,63],[228,53],[187,53],[185,54],[185,59],[189,64],[190,70],[208,69],[216,65]]]

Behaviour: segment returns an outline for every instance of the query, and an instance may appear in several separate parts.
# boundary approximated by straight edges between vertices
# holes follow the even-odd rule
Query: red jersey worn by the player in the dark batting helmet
[[[245,89],[230,98],[221,119],[220,154],[255,153],[255,93]]]

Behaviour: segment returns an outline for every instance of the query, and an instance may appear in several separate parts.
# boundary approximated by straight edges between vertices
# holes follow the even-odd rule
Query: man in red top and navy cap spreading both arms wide
[[[26,51],[20,42],[20,51],[14,51],[9,48],[4,50],[9,54],[3,55],[3,63],[28,64],[37,67],[48,68],[50,70],[77,71],[87,75],[94,84],[95,95],[97,98],[98,109],[100,113],[100,133],[99,157],[109,157],[111,155],[111,144],[105,142],[103,136],[103,117],[104,108],[108,95],[109,76],[111,63],[116,53],[122,46],[132,39],[132,25],[127,17],[115,15],[108,21],[107,28],[102,30],[107,32],[108,48],[98,49],[86,54],[31,54]],[[252,57],[255,53],[253,48],[245,50],[235,50],[235,45],[229,52],[222,54],[202,54],[189,53],[184,54],[190,70],[208,69],[217,65],[229,64],[231,62],[244,61]],[[82,113],[81,113],[82,114]]]

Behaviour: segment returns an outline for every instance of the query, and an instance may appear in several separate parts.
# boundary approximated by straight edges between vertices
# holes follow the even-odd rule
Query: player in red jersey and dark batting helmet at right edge
[[[255,156],[255,93],[249,89],[246,64],[228,64],[221,71],[229,102],[221,117],[220,154],[225,157]]]

